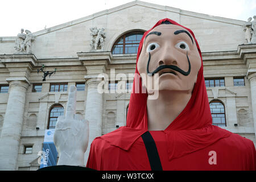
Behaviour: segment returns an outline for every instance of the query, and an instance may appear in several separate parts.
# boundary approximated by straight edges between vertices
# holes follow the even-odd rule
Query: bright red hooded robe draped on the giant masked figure
[[[159,20],[183,27],[170,19]],[[152,28],[154,28],[152,27]],[[138,48],[141,53],[144,33]],[[183,27],[199,44],[191,30]],[[138,73],[136,67],[135,73]],[[86,167],[96,170],[151,170],[141,135],[147,130],[147,93],[135,93],[141,78],[135,74],[127,124],[97,137],[90,147]],[[203,60],[191,99],[179,116],[162,131],[150,131],[155,140],[163,170],[255,170],[256,152],[251,140],[212,125],[203,77]]]

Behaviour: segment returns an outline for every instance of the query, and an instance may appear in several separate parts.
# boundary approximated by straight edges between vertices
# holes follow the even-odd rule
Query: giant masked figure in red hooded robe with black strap
[[[170,34],[168,26],[172,27]],[[170,43],[168,36],[174,38]],[[173,84],[172,79],[176,79],[172,77],[187,79],[196,74],[195,85],[191,98],[170,125],[162,130],[150,130],[148,92],[135,93],[137,84],[142,89],[139,71],[147,70],[151,76],[158,72],[160,69],[153,72],[154,66],[150,60],[161,56],[158,52],[164,47],[163,43],[170,49],[165,46],[166,49],[162,51],[173,53],[171,49],[174,41],[177,44],[173,47],[179,48],[177,57],[183,57],[185,61],[182,64],[186,66],[183,67],[184,71],[172,67],[174,71],[171,72],[173,75],[169,73],[170,84]],[[173,64],[179,65],[179,61],[175,60]],[[86,167],[97,170],[255,170],[256,152],[253,142],[212,125],[203,60],[191,30],[170,19],[159,20],[141,39],[135,73],[138,75],[134,77],[126,126],[93,140]],[[169,78],[162,76],[161,79]],[[184,83],[185,86],[189,84]]]

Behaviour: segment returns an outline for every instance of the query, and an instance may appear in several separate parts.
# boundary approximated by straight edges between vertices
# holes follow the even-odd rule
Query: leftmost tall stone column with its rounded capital
[[[0,170],[16,169],[27,88],[27,81],[14,79],[9,82],[9,99],[0,139]]]

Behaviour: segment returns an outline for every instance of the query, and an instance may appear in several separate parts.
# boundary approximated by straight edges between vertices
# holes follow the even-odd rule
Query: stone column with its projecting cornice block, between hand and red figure
[[[96,137],[102,134],[102,92],[98,92],[98,84],[102,81],[98,77],[104,77],[108,65],[111,64],[111,52],[77,52],[77,56],[86,70],[85,80],[87,84],[87,97],[85,104],[85,119],[89,121],[89,142],[85,152],[85,164],[87,162],[90,144]]]

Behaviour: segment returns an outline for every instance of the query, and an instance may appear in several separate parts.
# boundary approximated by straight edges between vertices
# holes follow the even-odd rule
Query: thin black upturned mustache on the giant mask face
[[[189,58],[188,58],[188,52],[187,52],[187,59],[188,59],[188,71],[185,72],[183,71],[182,69],[180,69],[179,67],[177,67],[176,65],[160,65],[158,68],[156,68],[152,73],[149,72],[148,70],[148,66],[149,66],[149,63],[150,63],[150,52],[148,52],[149,54],[149,57],[148,57],[148,61],[147,61],[147,75],[148,76],[153,76],[155,73],[159,72],[160,70],[164,69],[164,68],[170,68],[170,69],[173,69],[179,73],[181,73],[182,75],[184,76],[188,76],[190,71],[191,71],[191,64],[190,64],[190,61],[189,61]],[[169,72],[168,72],[169,73]],[[170,72],[171,73],[171,72]]]

